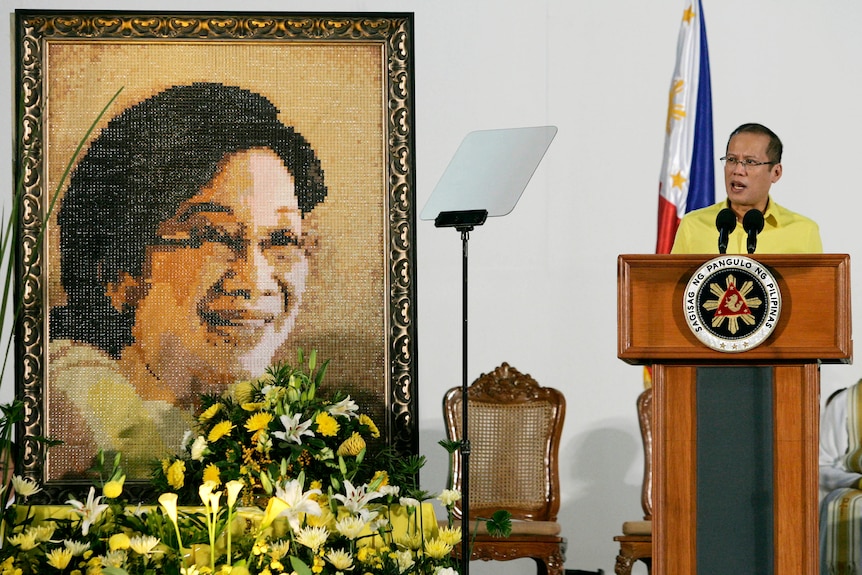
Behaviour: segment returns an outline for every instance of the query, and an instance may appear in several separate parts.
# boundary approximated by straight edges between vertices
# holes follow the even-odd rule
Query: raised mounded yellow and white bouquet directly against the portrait
[[[242,482],[243,504],[268,497],[284,480],[300,472],[317,489],[343,488],[343,481],[367,483],[375,473],[389,471],[396,461],[388,450],[377,454],[375,468],[367,446],[380,437],[371,417],[343,392],[319,393],[328,361],[298,352],[297,364],[270,367],[254,381],[241,381],[227,392],[201,397],[197,429],[186,434],[181,453],[156,466],[153,482],[173,491],[184,504],[195,504],[197,487],[206,481],[222,485]],[[421,465],[404,468],[408,480]]]

